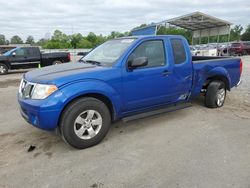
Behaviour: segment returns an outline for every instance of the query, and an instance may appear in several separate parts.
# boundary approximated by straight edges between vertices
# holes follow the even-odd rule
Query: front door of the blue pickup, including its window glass
[[[146,57],[148,65],[124,71],[125,113],[169,103],[173,95],[174,85],[166,59],[164,40],[143,41],[130,54],[128,60],[138,57]]]

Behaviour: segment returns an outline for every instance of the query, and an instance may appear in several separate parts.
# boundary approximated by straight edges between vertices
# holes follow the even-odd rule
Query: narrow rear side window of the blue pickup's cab
[[[171,46],[174,55],[174,63],[181,64],[186,61],[186,51],[180,39],[171,39]]]

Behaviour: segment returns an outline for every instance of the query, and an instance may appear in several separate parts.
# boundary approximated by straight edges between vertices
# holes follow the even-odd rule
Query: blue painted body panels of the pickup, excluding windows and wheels
[[[26,73],[24,79],[27,81],[55,84],[59,88],[44,100],[18,96],[27,121],[35,127],[53,130],[58,126],[63,109],[72,100],[87,94],[108,98],[113,106],[114,119],[119,119],[158,106],[189,101],[191,97],[199,95],[202,86],[214,76],[227,79],[229,88],[236,86],[240,80],[239,58],[192,63],[189,45],[181,36],[140,36],[130,39],[134,41],[112,66],[70,63]],[[186,60],[182,64],[174,64],[171,39],[180,39],[185,47]],[[128,70],[129,55],[138,45],[150,40],[163,41],[165,65]],[[168,76],[162,74],[166,70],[170,72]]]

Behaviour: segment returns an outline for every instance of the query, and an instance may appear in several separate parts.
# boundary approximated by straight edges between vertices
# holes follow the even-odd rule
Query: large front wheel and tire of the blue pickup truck
[[[84,149],[101,142],[110,124],[108,107],[96,98],[86,97],[74,101],[64,110],[59,128],[67,144]]]

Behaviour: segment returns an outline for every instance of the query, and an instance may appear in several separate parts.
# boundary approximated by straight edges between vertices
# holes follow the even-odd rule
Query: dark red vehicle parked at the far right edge
[[[250,42],[234,42],[228,52],[229,55],[250,55]]]

